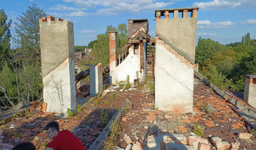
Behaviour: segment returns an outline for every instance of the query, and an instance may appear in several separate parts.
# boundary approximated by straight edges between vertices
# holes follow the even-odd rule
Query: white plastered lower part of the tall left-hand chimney
[[[43,96],[47,112],[66,113],[75,110],[75,67],[74,61],[66,58],[61,65],[43,78]]]

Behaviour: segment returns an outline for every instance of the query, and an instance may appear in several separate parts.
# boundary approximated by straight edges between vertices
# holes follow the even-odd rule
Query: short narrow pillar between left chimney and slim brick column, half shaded
[[[90,66],[90,95],[95,96],[103,89],[102,63]]]

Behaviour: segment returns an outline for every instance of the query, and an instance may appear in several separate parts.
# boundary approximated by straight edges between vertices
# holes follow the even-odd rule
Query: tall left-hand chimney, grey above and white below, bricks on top
[[[54,17],[40,20],[41,65],[47,112],[75,110],[73,23]]]

